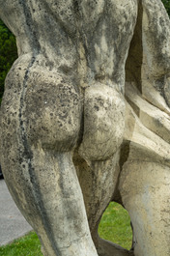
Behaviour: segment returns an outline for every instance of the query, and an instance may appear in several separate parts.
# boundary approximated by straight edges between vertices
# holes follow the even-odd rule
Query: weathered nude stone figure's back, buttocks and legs
[[[72,156],[80,144],[80,155],[92,165],[95,160],[93,172],[102,174],[96,181],[93,172],[84,179],[97,186],[91,195],[88,188],[85,197],[93,231],[117,183],[124,133],[124,68],[137,2],[121,3],[2,3],[0,14],[16,36],[19,55],[2,103],[3,155],[8,156],[1,158],[2,165],[7,167],[7,180],[11,176],[9,186],[19,209],[39,234],[45,256],[98,255]],[[89,174],[85,166],[84,173]]]

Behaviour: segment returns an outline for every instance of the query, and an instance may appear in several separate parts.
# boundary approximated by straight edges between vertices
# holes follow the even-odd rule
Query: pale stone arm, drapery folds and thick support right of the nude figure
[[[138,19],[137,27],[141,30],[135,32],[128,54],[119,191],[133,226],[134,255],[168,256],[170,21],[160,1],[142,1],[140,15],[142,23]],[[142,58],[136,61],[137,49]],[[139,67],[137,75],[130,71],[130,64]]]

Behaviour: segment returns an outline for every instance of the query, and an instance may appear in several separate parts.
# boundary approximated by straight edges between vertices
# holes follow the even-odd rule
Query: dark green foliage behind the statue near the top
[[[170,0],[162,0],[170,16]],[[0,19],[0,102],[4,92],[5,77],[17,58],[14,35]]]

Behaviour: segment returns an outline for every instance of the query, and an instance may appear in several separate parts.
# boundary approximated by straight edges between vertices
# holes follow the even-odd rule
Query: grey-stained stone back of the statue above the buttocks
[[[4,12],[17,16],[11,27],[18,42],[24,38],[20,54],[42,54],[48,60],[45,65],[76,70],[85,80],[106,78],[124,84],[137,0],[10,2],[2,5]]]

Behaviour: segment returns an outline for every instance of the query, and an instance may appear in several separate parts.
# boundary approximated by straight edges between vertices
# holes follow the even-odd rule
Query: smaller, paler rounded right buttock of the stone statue
[[[125,103],[114,88],[97,83],[85,91],[84,134],[79,153],[103,160],[117,152],[123,141]]]

